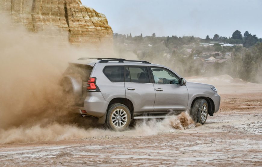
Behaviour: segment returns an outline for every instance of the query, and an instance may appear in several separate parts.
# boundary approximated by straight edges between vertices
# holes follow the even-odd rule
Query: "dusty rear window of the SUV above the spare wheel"
[[[93,67],[82,64],[70,64],[64,75],[79,75],[83,82],[87,82]]]

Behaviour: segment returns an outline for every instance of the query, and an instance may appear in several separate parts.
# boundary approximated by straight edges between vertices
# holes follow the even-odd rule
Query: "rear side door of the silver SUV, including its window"
[[[154,111],[155,91],[147,66],[126,66],[125,90],[135,114]]]

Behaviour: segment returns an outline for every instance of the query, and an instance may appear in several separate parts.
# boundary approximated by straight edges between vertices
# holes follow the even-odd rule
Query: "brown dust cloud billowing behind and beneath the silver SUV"
[[[73,99],[59,82],[68,61],[79,57],[120,57],[103,47],[99,51],[72,46],[56,29],[28,32],[0,16],[0,143],[60,141],[105,135],[152,135],[189,128],[182,114],[164,120],[142,120],[126,132],[105,130],[96,119],[71,115]],[[59,34],[65,39],[55,39]],[[62,41],[62,42],[61,42]],[[107,56],[104,56],[107,55]],[[135,57],[134,54],[121,57]],[[180,120],[180,121],[179,121]],[[180,122],[180,124],[179,124]],[[186,121],[188,122],[188,121]],[[191,122],[189,122],[191,123]]]

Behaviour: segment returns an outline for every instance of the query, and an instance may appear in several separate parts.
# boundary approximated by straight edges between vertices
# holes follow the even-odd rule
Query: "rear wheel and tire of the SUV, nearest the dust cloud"
[[[124,131],[131,122],[129,109],[120,103],[111,104],[107,110],[105,125],[114,131]]]

